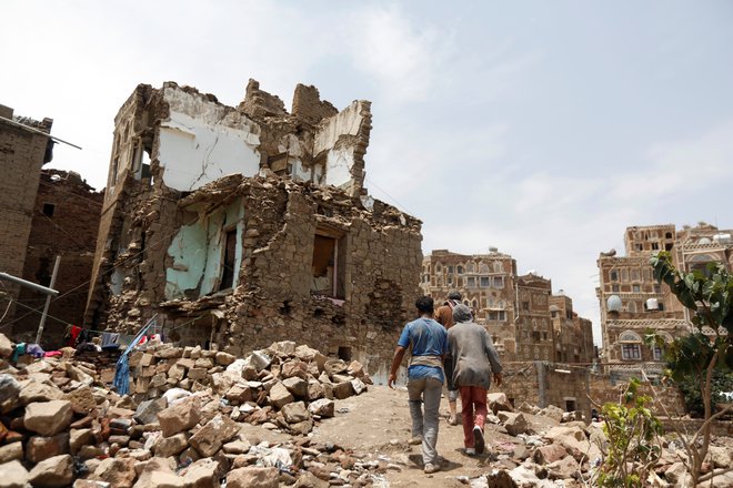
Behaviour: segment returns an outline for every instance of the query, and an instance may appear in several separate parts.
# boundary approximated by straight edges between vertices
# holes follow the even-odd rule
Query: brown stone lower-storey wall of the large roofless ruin
[[[213,204],[222,193],[229,199]],[[174,272],[193,267],[187,253],[199,248],[179,241],[175,231],[184,223],[203,225],[205,218],[191,222],[194,210],[207,207],[215,215],[217,206],[239,206],[243,215],[238,286],[202,292],[202,272],[193,279],[194,288],[167,296],[174,284],[177,289],[183,286]],[[168,242],[179,244],[148,247],[144,262],[127,262],[122,273],[130,279],[110,297],[110,328],[131,334],[157,313],[163,333],[178,345],[211,345],[240,356],[277,340],[297,340],[344,360],[358,359],[375,380],[385,379],[394,344],[413,318],[419,295],[419,221],[381,202],[366,210],[359,199],[335,189],[229,176],[183,200],[178,215],[167,222],[167,231],[173,231]],[[132,228],[131,235],[138,232]],[[337,297],[311,289],[319,234],[334,236],[341,246],[338,279],[343,289]],[[184,250],[175,258],[168,254],[180,246]],[[139,270],[145,272],[135,278]]]

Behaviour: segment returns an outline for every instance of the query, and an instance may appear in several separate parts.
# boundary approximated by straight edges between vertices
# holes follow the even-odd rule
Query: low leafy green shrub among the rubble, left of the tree
[[[636,488],[646,484],[660,458],[662,424],[652,414],[652,398],[639,395],[639,379],[632,378],[617,404],[603,405],[606,453],[598,474],[598,486]]]

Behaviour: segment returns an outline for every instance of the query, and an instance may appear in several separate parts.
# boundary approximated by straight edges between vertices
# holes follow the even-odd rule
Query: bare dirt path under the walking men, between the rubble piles
[[[443,396],[438,435],[438,453],[444,458],[443,469],[425,475],[420,446],[408,444],[411,424],[405,388],[391,390],[386,386],[370,386],[365,394],[337,401],[337,411],[334,418],[322,421],[314,429],[313,440],[353,449],[355,455],[365,456],[365,459],[389,459],[390,469],[385,478],[392,487],[464,487],[461,478],[473,478],[490,471],[492,465],[509,462],[498,460],[498,455],[513,451],[515,443],[521,441],[505,431],[499,433],[496,429],[500,427],[488,424],[486,447],[492,455],[465,456],[463,428],[460,425],[450,426],[445,420],[449,408]]]

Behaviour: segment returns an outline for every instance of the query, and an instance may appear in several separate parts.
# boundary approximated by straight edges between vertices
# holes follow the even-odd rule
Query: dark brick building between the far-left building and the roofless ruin
[[[81,325],[94,258],[97,231],[103,195],[78,173],[42,170],[32,211],[22,278],[48,286],[57,256],[61,257],[41,344],[62,345],[68,324]],[[46,296],[21,288],[12,324],[16,340],[33,342]]]

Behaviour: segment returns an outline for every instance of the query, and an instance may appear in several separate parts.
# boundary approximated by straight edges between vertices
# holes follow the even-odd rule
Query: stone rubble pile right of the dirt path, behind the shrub
[[[494,441],[492,469],[465,479],[473,488],[534,488],[593,486],[594,474],[608,446],[603,424],[582,421],[580,413],[568,413],[555,406],[538,408],[522,404],[514,410],[502,393],[489,394],[491,413],[488,421],[502,440]],[[686,487],[690,484],[684,461],[686,455],[674,436],[667,434],[663,454],[645,486]],[[495,440],[495,439],[494,439]],[[730,439],[714,439],[704,469],[733,465]],[[713,478],[713,487],[733,486],[733,474]]]

